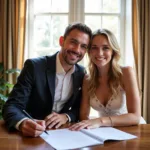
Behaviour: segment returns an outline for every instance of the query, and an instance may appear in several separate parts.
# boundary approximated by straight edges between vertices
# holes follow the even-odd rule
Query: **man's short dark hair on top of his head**
[[[65,33],[64,33],[64,39],[66,39],[66,37],[69,35],[69,33],[74,30],[74,29],[77,29],[79,31],[82,31],[86,34],[89,35],[89,38],[91,39],[91,36],[92,36],[92,31],[91,29],[85,25],[84,23],[73,23],[73,24],[69,24],[68,27],[66,28],[65,30]]]

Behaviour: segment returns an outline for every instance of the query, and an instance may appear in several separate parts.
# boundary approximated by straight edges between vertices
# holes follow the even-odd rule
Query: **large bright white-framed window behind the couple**
[[[126,7],[128,5],[128,7]],[[121,63],[129,62],[127,52],[132,59],[132,45],[126,38],[130,31],[127,11],[131,0],[28,0],[28,53],[27,58],[52,55],[60,49],[59,37],[71,22],[84,22],[92,30],[107,28],[117,37],[121,47]],[[128,8],[128,9],[127,9]],[[126,28],[128,27],[128,28]],[[128,50],[128,51],[126,51]],[[129,51],[130,50],[130,51]],[[81,62],[83,65],[86,60]]]

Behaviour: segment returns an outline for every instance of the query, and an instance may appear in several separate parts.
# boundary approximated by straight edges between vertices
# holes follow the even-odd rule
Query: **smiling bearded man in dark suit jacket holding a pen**
[[[84,57],[90,38],[91,30],[86,25],[69,25],[59,39],[58,53],[25,62],[3,107],[9,130],[16,128],[25,136],[37,137],[46,128],[78,120],[84,68],[77,62]]]

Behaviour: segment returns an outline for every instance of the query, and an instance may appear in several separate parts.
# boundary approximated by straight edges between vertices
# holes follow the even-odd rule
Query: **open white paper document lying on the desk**
[[[47,132],[49,135],[43,133],[41,138],[57,150],[76,149],[104,144],[106,140],[129,140],[137,138],[137,136],[112,127],[83,129],[80,131],[70,131],[66,128]]]

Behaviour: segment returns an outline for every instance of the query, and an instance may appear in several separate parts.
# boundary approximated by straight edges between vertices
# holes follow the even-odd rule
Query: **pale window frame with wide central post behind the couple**
[[[52,13],[54,15],[63,15],[63,14],[68,14],[68,23],[72,22],[84,22],[85,20],[85,14],[92,14],[92,13],[85,13],[84,12],[84,3],[86,0],[69,0],[69,12],[68,13]],[[120,25],[119,25],[119,33],[120,33],[120,48],[121,48],[121,54],[123,56],[125,55],[125,44],[126,44],[126,1],[130,0],[121,0],[120,2],[120,14],[117,13],[111,13],[111,15],[116,15],[120,18]],[[128,3],[127,2],[127,3]],[[28,14],[27,14],[27,33],[26,35],[28,36],[27,41],[26,41],[26,58],[31,58],[34,53],[34,47],[33,47],[33,28],[34,28],[34,13],[33,13],[33,3],[34,0],[28,0]],[[107,13],[97,13],[94,15],[109,15]],[[61,35],[60,35],[61,36]],[[124,58],[124,57],[122,57]],[[122,60],[122,63],[125,63],[126,59],[124,58]]]

